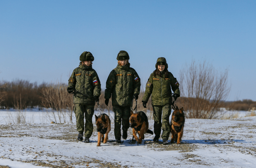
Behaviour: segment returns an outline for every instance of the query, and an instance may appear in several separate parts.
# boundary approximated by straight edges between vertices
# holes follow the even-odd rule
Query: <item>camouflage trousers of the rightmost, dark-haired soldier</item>
[[[163,111],[163,115],[162,115]],[[172,111],[172,105],[164,105],[164,106],[153,106],[153,116],[154,116],[154,133],[155,135],[161,134],[161,127],[163,130],[162,138],[168,139],[171,132],[170,125],[170,115]],[[162,119],[162,122],[161,122]]]

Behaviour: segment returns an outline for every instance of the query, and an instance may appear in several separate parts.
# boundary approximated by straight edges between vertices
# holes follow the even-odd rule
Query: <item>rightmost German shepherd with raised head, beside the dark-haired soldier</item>
[[[172,131],[172,139],[171,143],[177,141],[177,144],[180,144],[182,135],[183,135],[183,128],[185,123],[185,114],[183,112],[183,107],[181,109],[178,106],[172,112],[172,119],[171,119],[171,131]]]

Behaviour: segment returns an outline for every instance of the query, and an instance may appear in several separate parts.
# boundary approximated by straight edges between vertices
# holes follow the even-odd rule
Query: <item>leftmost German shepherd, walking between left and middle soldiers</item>
[[[97,146],[100,146],[100,141],[102,140],[103,143],[106,143],[108,141],[108,133],[111,129],[111,121],[107,114],[103,113],[102,115],[95,114],[95,121],[97,126],[97,132],[98,132],[98,144]],[[105,134],[105,138],[104,138]]]

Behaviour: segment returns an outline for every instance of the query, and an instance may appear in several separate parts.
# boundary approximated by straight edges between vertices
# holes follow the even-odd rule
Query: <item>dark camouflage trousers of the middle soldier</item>
[[[131,107],[113,106],[113,111],[115,113],[115,138],[121,138],[121,123],[123,131],[128,130],[130,127],[129,118],[131,116]]]

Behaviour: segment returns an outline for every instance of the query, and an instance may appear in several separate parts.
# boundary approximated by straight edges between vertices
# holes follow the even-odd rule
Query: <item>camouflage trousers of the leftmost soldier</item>
[[[84,133],[84,136],[90,138],[93,132],[92,116],[94,113],[94,106],[75,104],[74,112],[76,114],[76,130],[81,134]]]

